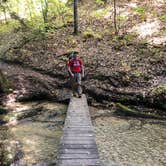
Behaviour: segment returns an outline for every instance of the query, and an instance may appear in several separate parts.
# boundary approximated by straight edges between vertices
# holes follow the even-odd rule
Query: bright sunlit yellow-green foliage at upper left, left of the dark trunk
[[[5,5],[7,15],[15,13],[34,29],[43,30],[48,22],[62,26],[71,21],[72,17],[71,9],[62,0],[10,0]],[[8,21],[10,20],[8,17]],[[11,28],[9,24],[4,29],[7,29],[7,26]]]

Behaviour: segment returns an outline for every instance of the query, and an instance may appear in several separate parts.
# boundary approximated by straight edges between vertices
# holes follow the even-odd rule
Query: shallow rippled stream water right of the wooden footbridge
[[[96,113],[104,110],[96,110]],[[120,166],[165,166],[166,121],[111,115],[93,121],[101,160]]]

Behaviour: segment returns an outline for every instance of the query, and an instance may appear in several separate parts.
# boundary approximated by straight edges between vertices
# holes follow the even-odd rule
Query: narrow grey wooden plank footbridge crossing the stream
[[[59,147],[58,166],[103,166],[99,160],[85,95],[70,100]]]

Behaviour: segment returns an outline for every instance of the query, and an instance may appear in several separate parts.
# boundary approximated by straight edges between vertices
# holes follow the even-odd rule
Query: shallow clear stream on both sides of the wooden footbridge
[[[13,103],[0,127],[0,165],[56,165],[67,106],[48,101]],[[37,110],[37,111],[36,111]],[[166,165],[166,121],[121,117],[90,107],[100,158],[120,166]]]

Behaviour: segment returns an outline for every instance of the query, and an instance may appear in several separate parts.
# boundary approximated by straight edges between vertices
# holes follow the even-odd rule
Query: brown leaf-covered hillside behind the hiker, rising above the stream
[[[119,36],[114,34],[110,5],[92,2],[80,6],[77,36],[70,23],[60,29],[50,27],[37,36],[28,31],[1,33],[0,69],[11,83],[6,98],[68,101],[67,55],[77,50],[85,65],[84,92],[92,105],[99,102],[111,107],[111,102],[118,102],[157,108],[158,114],[165,115],[164,3],[151,4],[142,14],[134,5],[147,7],[139,1],[119,5],[120,12],[126,14],[120,20]]]

